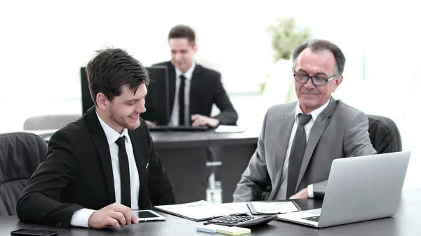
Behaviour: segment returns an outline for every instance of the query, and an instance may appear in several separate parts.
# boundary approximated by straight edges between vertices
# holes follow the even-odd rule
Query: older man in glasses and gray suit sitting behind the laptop
[[[332,97],[344,67],[345,56],[329,41],[307,41],[295,49],[298,102],[267,111],[234,202],[323,197],[335,158],[375,153],[366,114]]]

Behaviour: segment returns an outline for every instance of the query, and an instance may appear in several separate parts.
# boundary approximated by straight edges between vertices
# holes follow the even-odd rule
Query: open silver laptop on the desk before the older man
[[[323,228],[393,216],[409,157],[406,151],[335,159],[321,208],[279,214],[278,219]]]

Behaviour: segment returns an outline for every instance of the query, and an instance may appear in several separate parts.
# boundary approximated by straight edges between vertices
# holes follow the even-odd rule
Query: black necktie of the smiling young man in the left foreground
[[[116,141],[119,146],[121,204],[131,208],[130,170],[128,169],[125,139],[126,137],[123,136]]]

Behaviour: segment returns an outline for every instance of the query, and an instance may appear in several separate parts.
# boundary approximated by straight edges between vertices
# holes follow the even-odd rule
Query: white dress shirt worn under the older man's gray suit
[[[307,123],[304,126],[307,141],[309,141],[310,132],[312,131],[314,121],[316,121],[316,119],[320,115],[320,113],[324,109],[326,109],[326,106],[328,106],[329,101],[330,101],[330,99],[328,99],[328,102],[323,104],[323,106],[320,106],[318,109],[309,113],[310,115],[312,115],[312,118],[310,119],[309,123]],[[300,114],[300,113],[303,113],[303,112],[301,111],[301,108],[300,108],[300,102],[298,102],[297,108],[295,108],[295,121],[294,121],[294,125],[293,125],[293,130],[291,130],[291,136],[290,136],[290,139],[288,141],[288,148],[286,149],[286,157],[285,157],[285,161],[283,162],[282,175],[281,175],[281,199],[286,199],[286,188],[287,188],[287,185],[288,185],[289,155],[291,153],[291,147],[293,146],[295,132],[297,132],[298,114]],[[307,192],[309,194],[309,197],[314,197],[313,185],[312,184],[307,186]]]

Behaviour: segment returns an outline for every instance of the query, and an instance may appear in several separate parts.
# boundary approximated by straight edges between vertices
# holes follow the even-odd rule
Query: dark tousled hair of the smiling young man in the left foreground
[[[86,66],[89,90],[95,106],[99,92],[112,101],[114,96],[121,94],[123,85],[128,85],[133,92],[136,92],[142,83],[149,85],[145,67],[125,50],[106,48],[96,53]]]

